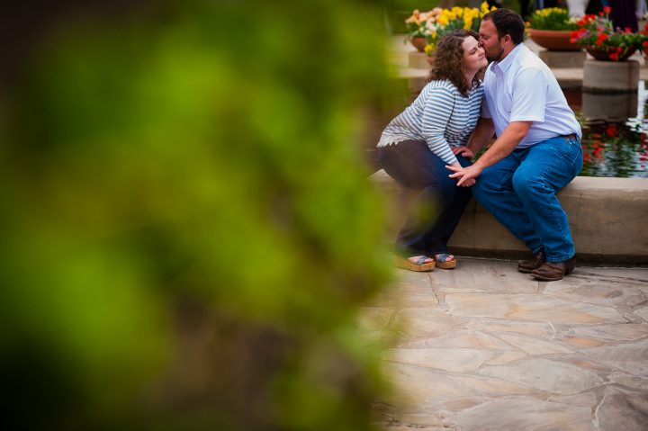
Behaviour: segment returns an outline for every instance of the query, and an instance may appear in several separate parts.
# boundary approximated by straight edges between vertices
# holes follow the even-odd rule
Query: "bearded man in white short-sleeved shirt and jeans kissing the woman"
[[[479,176],[475,199],[536,256],[518,270],[554,281],[574,267],[572,234],[555,193],[581,171],[581,126],[549,67],[522,43],[524,30],[517,13],[484,15],[480,44],[491,64],[482,118],[468,148],[457,152],[476,152],[493,131],[497,139],[473,166],[446,167],[457,185]]]

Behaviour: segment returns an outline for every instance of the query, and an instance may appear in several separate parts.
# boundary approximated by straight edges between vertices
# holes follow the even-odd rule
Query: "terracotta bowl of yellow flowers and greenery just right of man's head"
[[[545,49],[555,51],[581,50],[571,41],[572,31],[578,29],[578,23],[570,18],[567,9],[547,7],[531,15],[528,34],[531,40]]]

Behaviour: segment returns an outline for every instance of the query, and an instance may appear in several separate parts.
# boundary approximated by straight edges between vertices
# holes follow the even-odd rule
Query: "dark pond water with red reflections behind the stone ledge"
[[[581,94],[581,89],[564,91],[582,125],[581,176],[648,178],[648,92],[644,86],[640,81],[637,94],[614,99]],[[586,119],[591,112],[598,118]]]

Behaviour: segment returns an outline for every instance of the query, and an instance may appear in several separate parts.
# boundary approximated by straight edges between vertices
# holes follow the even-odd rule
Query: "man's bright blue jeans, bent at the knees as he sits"
[[[577,139],[547,139],[516,149],[483,170],[473,197],[534,255],[545,251],[549,262],[576,253],[567,214],[555,193],[581,172],[582,149]]]

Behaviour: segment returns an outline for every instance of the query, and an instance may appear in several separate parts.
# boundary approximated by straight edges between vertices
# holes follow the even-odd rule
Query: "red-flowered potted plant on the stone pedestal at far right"
[[[609,19],[611,9],[606,6],[599,15],[585,15],[572,31],[572,40],[585,47],[590,55],[601,61],[625,61],[637,49],[643,49],[648,36],[630,29],[614,29]]]

